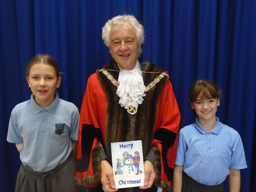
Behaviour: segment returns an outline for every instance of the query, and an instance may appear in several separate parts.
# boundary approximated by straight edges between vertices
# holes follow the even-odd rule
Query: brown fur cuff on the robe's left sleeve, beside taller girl
[[[101,177],[100,162],[99,162],[100,148],[101,148],[100,143],[98,143],[92,151],[93,175],[89,175],[84,178],[74,177],[74,183],[76,185],[88,186],[90,184],[99,182],[100,177]]]

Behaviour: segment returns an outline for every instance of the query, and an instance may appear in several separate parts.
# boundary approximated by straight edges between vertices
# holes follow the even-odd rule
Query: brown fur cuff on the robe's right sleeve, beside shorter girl
[[[161,180],[161,153],[160,150],[157,146],[157,144],[154,145],[154,156],[155,156],[155,163],[154,163],[154,172],[156,174],[155,177],[155,186],[156,187],[161,187],[163,190],[166,192],[172,192],[172,187],[170,186],[169,183],[167,183],[164,180]]]

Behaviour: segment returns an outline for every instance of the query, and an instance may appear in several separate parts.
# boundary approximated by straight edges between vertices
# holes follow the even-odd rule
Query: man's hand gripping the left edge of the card
[[[115,192],[116,189],[115,181],[114,181],[114,173],[111,165],[107,160],[102,160],[100,162],[101,169],[101,183],[104,186],[106,192]]]

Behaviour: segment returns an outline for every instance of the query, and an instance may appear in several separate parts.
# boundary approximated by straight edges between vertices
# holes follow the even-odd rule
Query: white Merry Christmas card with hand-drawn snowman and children
[[[141,140],[111,143],[112,167],[116,189],[144,185]]]

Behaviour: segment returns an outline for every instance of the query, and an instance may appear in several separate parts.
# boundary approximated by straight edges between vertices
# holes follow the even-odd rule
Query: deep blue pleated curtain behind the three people
[[[15,190],[20,159],[6,135],[12,108],[31,95],[30,59],[52,55],[63,72],[59,96],[80,109],[88,77],[112,60],[102,26],[125,13],[145,28],[139,60],[169,72],[180,128],[195,121],[188,107],[192,82],[209,79],[221,87],[217,116],[239,132],[246,154],[241,191],[255,192],[255,0],[0,0],[0,191]]]

